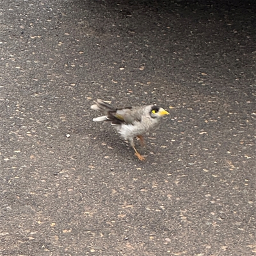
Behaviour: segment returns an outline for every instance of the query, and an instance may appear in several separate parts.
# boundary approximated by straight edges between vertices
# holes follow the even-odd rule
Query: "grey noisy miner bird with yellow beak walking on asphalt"
[[[136,150],[134,138],[137,137],[143,145],[143,134],[154,129],[162,117],[169,115],[169,113],[155,105],[115,108],[103,100],[97,99],[94,102],[95,104],[91,106],[91,109],[101,112],[103,116],[93,118],[93,121],[109,121],[111,125],[115,126],[122,138],[129,141],[138,159],[145,160]]]

